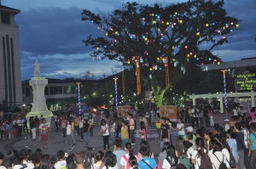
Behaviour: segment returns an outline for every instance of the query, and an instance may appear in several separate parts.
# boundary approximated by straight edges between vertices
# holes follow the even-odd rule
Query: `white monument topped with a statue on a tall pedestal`
[[[48,84],[48,79],[41,76],[40,65],[38,60],[34,63],[34,77],[29,81],[29,85],[33,89],[33,104],[32,110],[26,115],[29,117],[38,115],[38,118],[43,115],[47,123],[50,123],[50,118],[53,116],[46,106],[46,99],[44,97],[44,88]]]

